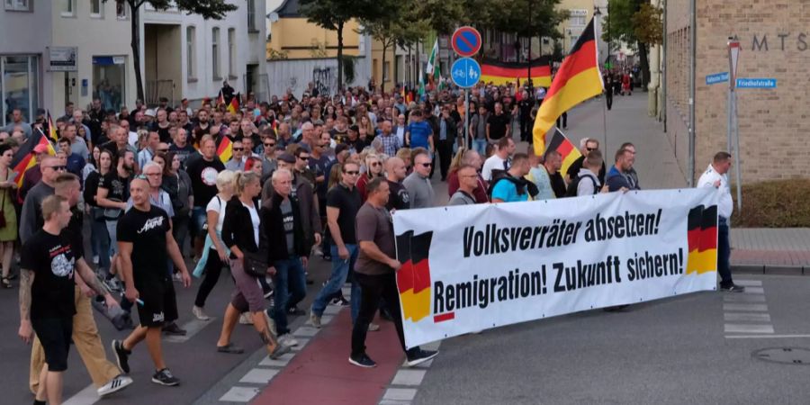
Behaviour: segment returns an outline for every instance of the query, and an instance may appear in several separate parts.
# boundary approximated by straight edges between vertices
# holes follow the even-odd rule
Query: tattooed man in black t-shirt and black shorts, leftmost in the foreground
[[[118,305],[104,290],[82,257],[83,247],[67,232],[71,212],[67,199],[50,195],[42,201],[45,224],[23,244],[20,272],[19,336],[31,343],[33,333],[45,352],[36,403],[60,403],[62,373],[67,370],[67,352],[76,314],[74,271],[95,293],[105,294],[107,305]],[[58,387],[46,392],[46,387]]]

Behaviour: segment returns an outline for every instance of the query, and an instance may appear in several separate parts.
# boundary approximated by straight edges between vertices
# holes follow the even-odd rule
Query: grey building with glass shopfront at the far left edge
[[[52,75],[46,66],[51,39],[51,2],[4,0],[0,5],[0,125],[14,108],[27,121],[49,105]]]

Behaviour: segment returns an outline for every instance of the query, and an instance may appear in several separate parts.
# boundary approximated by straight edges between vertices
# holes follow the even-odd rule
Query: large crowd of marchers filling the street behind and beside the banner
[[[531,147],[518,152],[512,130],[532,139],[543,94],[479,85],[466,129],[464,100],[452,89],[406,103],[399,88],[329,96],[310,84],[300,98],[288,91],[260,102],[248,94],[239,110],[226,107],[240,97],[233,92],[223,92],[224,103],[206,99],[198,108],[187,100],[161,100],[156,108],[138,102],[131,111],[104,110],[100,100],[87,111],[68,103],[55,122],[56,155],[33,148],[37,163],[21,174],[22,185],[11,167],[14,154],[49,129],[14,112],[10,131],[0,132],[0,259],[2,285],[12,288],[14,246],[22,246],[20,336],[41,342],[31,362],[35,403],[60,403],[71,341],[85,347],[80,354],[100,395],[132,382],[128,358],[141,341],[155,365],[152,382],[178,384],[160,347],[162,334],[185,334],[175,323],[175,283],[190,287],[192,276],[202,279],[190,311],[210,320],[206,301],[222,269],[229,269],[234,293],[216,342],[220,353],[244,352],[233,341],[240,322],[253,325],[269,356],[282,356],[298,345],[289,318],[308,315],[320,328],[331,304],[350,307],[353,365],[375,365],[365,339],[380,329],[373,322],[378,311],[393,321],[409,365],[437,356],[405,347],[391,217],[437,205],[437,164],[450,205],[640,189],[630,143],[608,169],[599,141],[582,139],[583,156],[567,173],[555,150],[542,157]],[[331,273],[306,311],[299,304],[312,283],[311,257],[329,261]],[[351,300],[341,292],[347,280]],[[724,283],[734,285],[730,275]],[[112,341],[117,365],[106,360],[94,328],[93,300],[120,306],[124,318],[133,307],[138,312],[129,337]]]

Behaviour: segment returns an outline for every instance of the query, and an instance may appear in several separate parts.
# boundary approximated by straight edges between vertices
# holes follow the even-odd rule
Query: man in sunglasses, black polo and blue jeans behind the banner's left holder
[[[310,322],[312,326],[320,328],[320,317],[326,310],[329,299],[340,291],[346,283],[349,271],[354,268],[357,261],[357,239],[355,236],[355,217],[363,200],[355,184],[360,175],[360,166],[355,162],[343,165],[340,182],[327,193],[327,223],[332,236],[330,256],[332,257],[332,274],[329,281],[312,302]],[[360,311],[360,286],[352,284],[352,320]]]

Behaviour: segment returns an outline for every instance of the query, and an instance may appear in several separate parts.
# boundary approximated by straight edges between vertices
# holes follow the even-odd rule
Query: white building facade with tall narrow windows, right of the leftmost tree
[[[175,9],[166,11],[156,11],[144,4],[141,14],[141,39],[144,38],[144,26],[147,24],[174,24],[180,27],[180,58],[181,80],[175,84],[175,98],[188,98],[196,102],[204,97],[216,97],[220,91],[223,80],[228,80],[229,84],[237,92],[244,92],[244,75],[248,60],[248,34],[247,34],[247,1],[229,0],[231,4],[237,4],[238,9],[225,16],[222,20],[205,20],[202,16],[195,14],[185,14]],[[259,13],[261,15],[261,13]],[[259,23],[258,25],[261,25]],[[195,40],[193,63],[195,77],[188,76],[187,64],[189,58],[186,52],[186,27],[195,28]],[[213,76],[211,67],[211,36],[213,28],[220,29],[219,55],[220,55],[220,76]],[[236,33],[236,59],[234,63],[235,71],[229,72],[229,51],[228,51],[228,30],[234,29]],[[144,44],[141,40],[141,52]],[[263,48],[264,49],[264,48]],[[143,64],[144,61],[142,60]],[[229,73],[231,75],[229,75]]]

